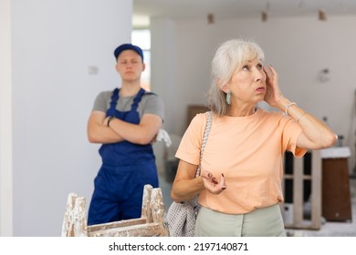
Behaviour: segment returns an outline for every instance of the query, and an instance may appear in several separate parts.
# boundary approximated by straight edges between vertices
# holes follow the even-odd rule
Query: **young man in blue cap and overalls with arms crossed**
[[[99,93],[88,122],[89,142],[102,144],[89,225],[140,218],[143,186],[158,187],[152,140],[164,118],[162,99],[141,88],[139,46],[118,46],[114,56],[121,87]]]

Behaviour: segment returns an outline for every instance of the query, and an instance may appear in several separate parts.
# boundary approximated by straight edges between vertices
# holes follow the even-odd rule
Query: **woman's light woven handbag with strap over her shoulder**
[[[200,165],[202,162],[203,151],[209,137],[212,125],[212,112],[206,112],[207,119],[204,130],[204,138],[202,148],[200,150],[199,166],[196,168],[195,177],[200,175]],[[165,223],[168,225],[168,230],[171,237],[193,237],[195,229],[196,216],[198,215],[200,206],[197,203],[197,196],[193,199],[183,201],[181,203],[174,202],[169,207],[165,215]]]

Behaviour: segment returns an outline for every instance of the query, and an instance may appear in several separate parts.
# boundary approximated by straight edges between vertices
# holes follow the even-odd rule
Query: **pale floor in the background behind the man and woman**
[[[166,209],[172,203],[170,192],[173,173],[160,174],[160,186]],[[322,218],[320,230],[287,230],[288,236],[295,237],[356,237],[356,178],[350,179],[352,220],[331,222]]]

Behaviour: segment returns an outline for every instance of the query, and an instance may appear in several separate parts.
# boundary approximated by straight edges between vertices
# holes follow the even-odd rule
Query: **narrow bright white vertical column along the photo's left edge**
[[[10,0],[0,1],[0,237],[13,235]]]

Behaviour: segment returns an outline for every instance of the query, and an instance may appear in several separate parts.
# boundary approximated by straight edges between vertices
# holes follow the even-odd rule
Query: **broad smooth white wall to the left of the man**
[[[131,41],[132,0],[11,4],[13,232],[59,236],[68,193],[89,204],[100,158],[87,121],[99,91],[119,86],[113,50]]]

